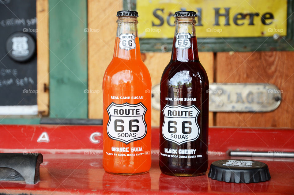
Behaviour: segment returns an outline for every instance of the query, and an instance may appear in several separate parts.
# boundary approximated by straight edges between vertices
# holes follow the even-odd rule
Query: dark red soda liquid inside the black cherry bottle
[[[160,170],[169,175],[190,176],[204,174],[208,167],[208,97],[209,82],[207,74],[198,59],[196,37],[191,38],[192,46],[188,49],[175,48],[173,44],[172,58],[165,68],[160,82],[160,152],[164,148],[196,149],[199,158],[174,158],[159,156]],[[176,83],[176,84],[175,84]],[[172,101],[166,97],[195,98],[195,101]],[[187,143],[165,140],[162,135],[164,115],[162,109],[168,105],[195,105],[200,113],[197,123],[200,128],[199,137]],[[192,129],[193,131],[193,129]]]

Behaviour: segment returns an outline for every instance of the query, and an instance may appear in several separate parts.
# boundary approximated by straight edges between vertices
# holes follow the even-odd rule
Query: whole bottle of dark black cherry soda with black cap
[[[194,11],[175,13],[171,61],[160,82],[160,170],[205,174],[208,166],[207,74],[199,62]]]

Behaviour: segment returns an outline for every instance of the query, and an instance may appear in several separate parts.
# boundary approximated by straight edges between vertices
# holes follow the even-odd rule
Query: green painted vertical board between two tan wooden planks
[[[87,0],[49,0],[50,117],[87,118]]]

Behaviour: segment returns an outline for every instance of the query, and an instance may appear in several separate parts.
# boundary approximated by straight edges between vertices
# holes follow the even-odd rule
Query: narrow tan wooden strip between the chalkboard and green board
[[[49,14],[48,0],[37,0],[37,105],[43,116],[49,113],[49,92],[44,85],[49,86]]]

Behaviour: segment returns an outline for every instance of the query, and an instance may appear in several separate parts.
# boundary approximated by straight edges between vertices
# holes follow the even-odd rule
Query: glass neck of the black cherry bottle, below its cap
[[[176,17],[171,61],[199,61],[194,17]]]

